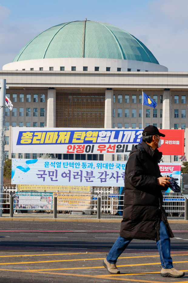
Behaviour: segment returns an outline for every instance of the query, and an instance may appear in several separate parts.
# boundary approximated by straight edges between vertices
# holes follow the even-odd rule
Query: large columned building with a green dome
[[[13,104],[5,112],[6,158],[41,155],[12,152],[12,127],[142,129],[142,90],[157,103],[144,106],[143,128],[184,129],[187,152],[188,73],[168,72],[140,40],[111,24],[86,19],[53,26],[4,65],[0,79]],[[126,161],[128,153],[55,157]],[[164,161],[180,162],[177,155]]]

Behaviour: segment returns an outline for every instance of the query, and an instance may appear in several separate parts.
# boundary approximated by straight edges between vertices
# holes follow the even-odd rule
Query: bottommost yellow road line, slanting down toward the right
[[[0,269],[1,271],[17,271],[17,272],[34,272],[42,274],[56,274],[56,275],[68,275],[68,276],[79,276],[79,277],[91,277],[91,278],[106,278],[105,275],[87,275],[87,274],[72,274],[72,273],[60,273],[60,272],[45,272],[45,271],[31,271],[31,270],[14,270],[14,269]],[[132,278],[118,278],[118,277],[108,277],[108,279],[124,280],[124,281],[134,281],[134,282],[147,282],[147,283],[169,283],[164,281],[151,281],[151,280],[141,280]],[[188,281],[179,281],[176,283],[188,283]]]

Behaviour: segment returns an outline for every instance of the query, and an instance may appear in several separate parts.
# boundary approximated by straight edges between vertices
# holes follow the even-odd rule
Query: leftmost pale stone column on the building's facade
[[[47,100],[47,122],[46,127],[55,128],[55,116],[56,116],[56,90],[48,89]]]

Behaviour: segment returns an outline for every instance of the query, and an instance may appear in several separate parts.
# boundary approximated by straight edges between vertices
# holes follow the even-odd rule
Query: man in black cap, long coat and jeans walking
[[[185,273],[173,268],[170,237],[174,236],[162,206],[161,190],[167,189],[170,178],[160,174],[158,162],[162,152],[157,148],[161,145],[160,136],[165,135],[155,126],[146,127],[142,135],[141,144],[133,148],[126,164],[120,236],[103,265],[109,273],[119,274],[116,261],[132,239],[156,240],[162,265],[161,276],[182,277]]]

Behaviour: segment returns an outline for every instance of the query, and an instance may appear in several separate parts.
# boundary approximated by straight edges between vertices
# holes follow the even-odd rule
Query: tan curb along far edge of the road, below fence
[[[37,217],[0,217],[0,221],[51,221],[51,222],[121,222],[122,219],[104,219],[104,218],[37,218]],[[188,220],[168,220],[173,224],[188,223]]]

